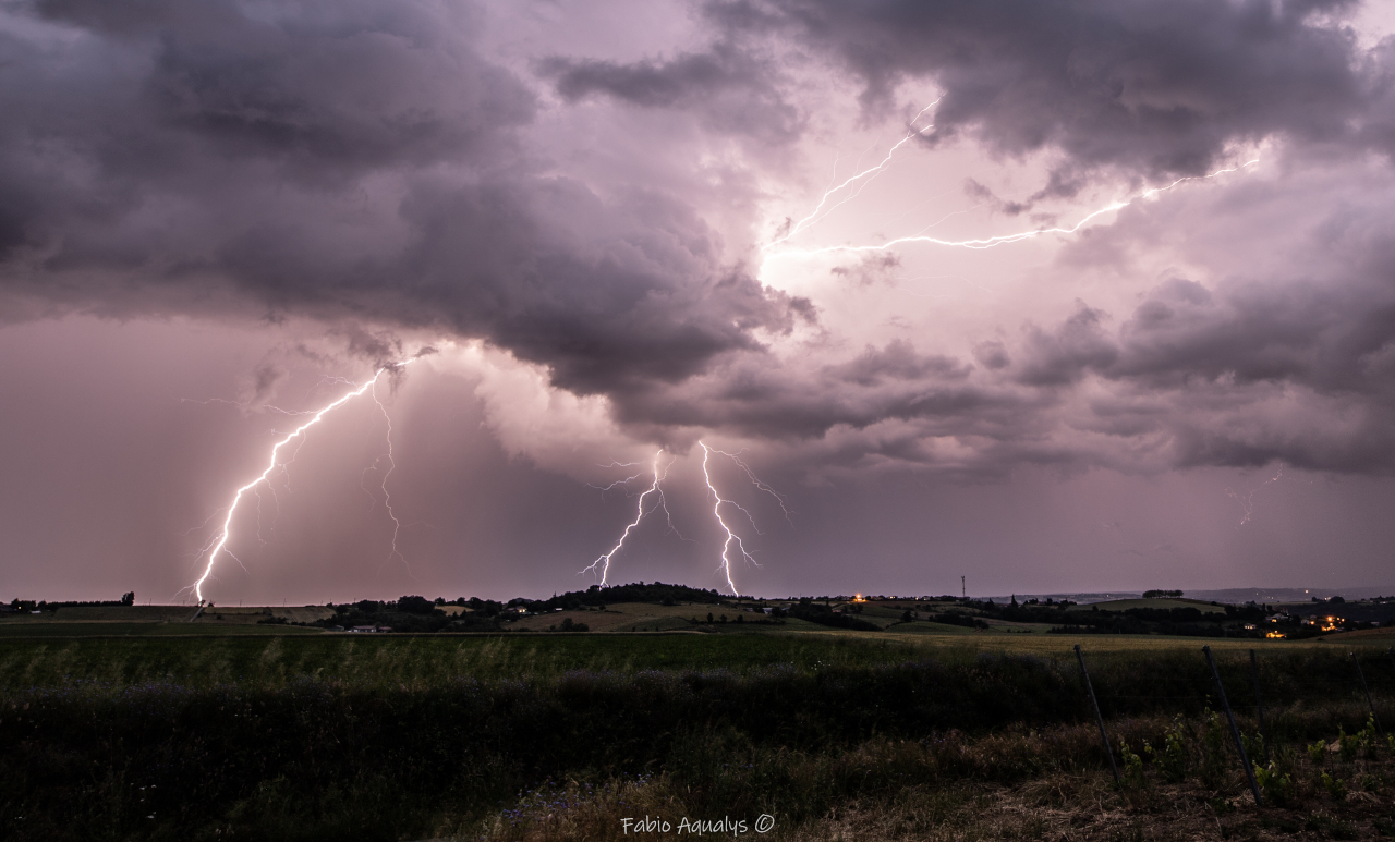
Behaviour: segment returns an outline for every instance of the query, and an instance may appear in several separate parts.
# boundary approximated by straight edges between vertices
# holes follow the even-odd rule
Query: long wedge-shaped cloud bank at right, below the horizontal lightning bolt
[[[1006,475],[1027,463],[1126,470],[1285,464],[1395,473],[1395,248],[1341,282],[1170,279],[1115,318],[1085,303],[975,346],[905,340],[816,369],[738,361],[654,389],[624,420],[802,441],[824,464]],[[844,435],[858,432],[859,435]],[[937,439],[956,442],[946,456]],[[819,442],[823,443],[819,443]]]

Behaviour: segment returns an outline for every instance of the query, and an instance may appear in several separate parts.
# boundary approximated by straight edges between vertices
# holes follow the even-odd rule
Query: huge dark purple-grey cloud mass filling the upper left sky
[[[728,265],[681,199],[537,174],[519,135],[534,95],[477,53],[469,7],[10,11],[0,282],[14,296],[445,329],[578,392],[681,379],[812,315]]]

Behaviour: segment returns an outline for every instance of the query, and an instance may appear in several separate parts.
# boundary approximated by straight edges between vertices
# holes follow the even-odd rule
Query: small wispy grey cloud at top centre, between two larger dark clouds
[[[788,142],[802,124],[780,89],[778,67],[731,42],[668,61],[552,56],[538,63],[538,71],[571,102],[600,95],[638,107],[678,109],[724,134]]]

